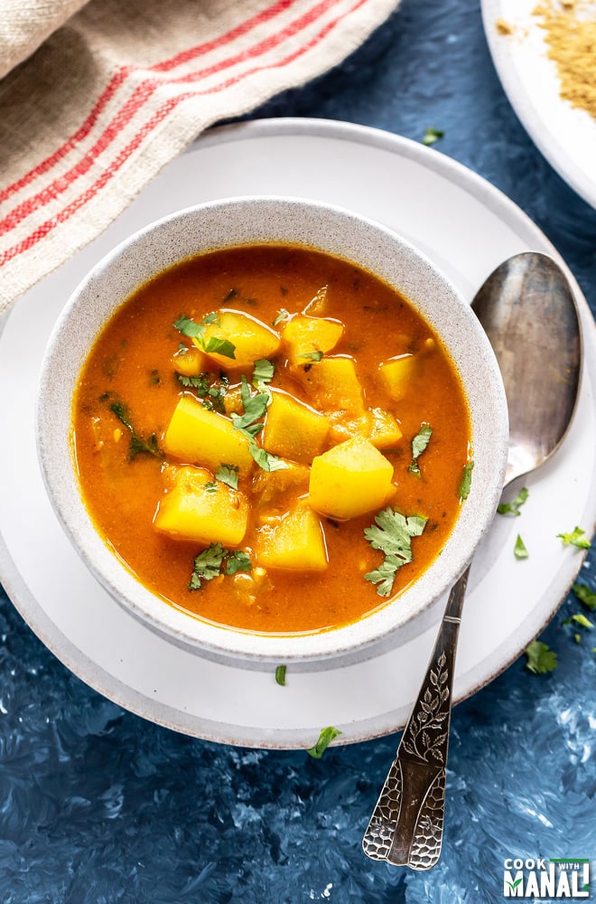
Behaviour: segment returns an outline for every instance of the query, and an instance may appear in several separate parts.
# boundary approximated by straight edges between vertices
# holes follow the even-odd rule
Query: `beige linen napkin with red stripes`
[[[354,51],[399,0],[0,0],[0,314],[217,120]]]

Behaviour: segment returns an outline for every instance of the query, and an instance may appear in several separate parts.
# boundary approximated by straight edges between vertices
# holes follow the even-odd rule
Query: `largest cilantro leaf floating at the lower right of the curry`
[[[412,561],[412,538],[424,531],[427,519],[421,515],[406,517],[397,509],[386,508],[375,517],[377,526],[367,527],[364,535],[374,550],[385,553],[385,561],[364,579],[377,584],[379,597],[388,597],[393,589],[396,572]]]

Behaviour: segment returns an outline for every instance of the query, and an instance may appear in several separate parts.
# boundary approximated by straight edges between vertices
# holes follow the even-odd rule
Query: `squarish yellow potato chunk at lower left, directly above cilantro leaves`
[[[178,468],[154,517],[157,531],[174,540],[237,546],[247,532],[245,494],[214,480],[203,467]]]

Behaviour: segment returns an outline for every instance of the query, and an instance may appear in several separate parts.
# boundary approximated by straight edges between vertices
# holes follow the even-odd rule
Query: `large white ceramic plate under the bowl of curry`
[[[126,614],[93,579],[52,512],[35,454],[33,411],[44,344],[70,291],[116,242],[189,203],[241,194],[308,196],[385,223],[419,245],[471,299],[520,250],[557,254],[534,223],[480,177],[432,148],[375,129],[278,119],[215,130],[179,157],[101,238],[14,307],[0,335],[0,578],[23,618],[74,673],[131,711],[200,738],[302,748],[325,725],[336,741],[402,727],[435,627],[359,664],[247,670],[186,652]],[[429,214],[430,212],[430,214]],[[564,265],[563,265],[564,266]],[[596,517],[596,331],[573,277],[585,364],[572,430],[527,480],[519,518],[499,516],[470,578],[454,694],[478,690],[553,616],[582,563],[556,534]],[[517,532],[530,557],[517,561]],[[438,617],[438,611],[437,611]]]

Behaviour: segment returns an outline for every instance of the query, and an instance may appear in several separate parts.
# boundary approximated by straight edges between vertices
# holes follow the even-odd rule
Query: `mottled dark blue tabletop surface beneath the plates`
[[[596,212],[517,122],[477,2],[404,0],[339,69],[255,113],[274,116],[443,129],[441,151],[529,214],[596,310]],[[442,859],[423,874],[360,851],[397,737],[321,761],[183,737],[89,690],[0,595],[0,900],[479,904],[502,899],[507,856],[593,860],[596,630],[576,644],[562,625],[579,608],[542,638],[554,673],[521,658],[454,711]]]

